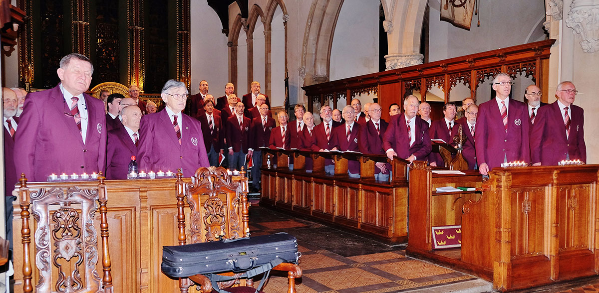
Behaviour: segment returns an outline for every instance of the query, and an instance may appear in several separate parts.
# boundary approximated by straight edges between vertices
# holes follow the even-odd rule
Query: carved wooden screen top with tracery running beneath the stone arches
[[[365,93],[375,94],[377,102],[387,109],[392,103],[401,105],[403,98],[412,91],[420,91],[424,97],[434,86],[443,90],[445,102],[449,102],[449,91],[458,83],[469,87],[471,97],[476,101],[476,89],[486,78],[506,72],[512,78],[521,74],[530,77],[541,88],[543,100],[546,101],[549,78],[546,68],[549,66],[549,50],[553,42],[555,39],[547,39],[302,88],[308,96],[310,112],[315,103],[325,105],[332,101],[334,108],[337,108],[339,99],[346,99],[347,105],[350,105],[353,97]],[[383,111],[383,118],[388,120],[388,116],[388,112]]]

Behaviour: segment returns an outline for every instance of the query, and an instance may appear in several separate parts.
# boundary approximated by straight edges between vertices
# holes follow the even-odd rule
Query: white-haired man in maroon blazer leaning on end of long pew
[[[431,138],[428,136],[428,123],[418,112],[418,97],[407,96],[404,100],[404,114],[395,115],[383,137],[383,149],[391,160],[394,156],[412,163],[423,160],[431,152]]]

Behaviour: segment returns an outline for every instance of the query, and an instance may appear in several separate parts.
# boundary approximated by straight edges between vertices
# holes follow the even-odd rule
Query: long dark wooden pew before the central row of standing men
[[[391,161],[390,182],[374,180],[374,163],[388,162],[385,155],[357,152],[311,152],[262,149],[261,206],[365,233],[388,243],[407,240],[407,161]],[[276,168],[267,162],[279,156],[312,158],[313,172],[288,167]],[[335,175],[325,175],[326,158],[335,160]],[[362,178],[349,178],[347,161],[361,162]],[[301,166],[301,165],[298,165]]]

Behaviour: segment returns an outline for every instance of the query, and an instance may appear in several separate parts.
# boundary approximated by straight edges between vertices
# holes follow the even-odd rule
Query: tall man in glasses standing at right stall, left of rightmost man
[[[479,105],[474,144],[482,175],[501,163],[530,161],[527,106],[509,98],[512,84],[509,75],[498,74],[493,79],[495,99]]]

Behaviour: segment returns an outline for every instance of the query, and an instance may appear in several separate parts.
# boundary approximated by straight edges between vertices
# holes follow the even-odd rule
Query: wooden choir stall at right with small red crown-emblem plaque
[[[599,165],[496,168],[480,175],[410,169],[406,254],[514,291],[599,272]],[[437,187],[477,191],[437,193]],[[433,249],[432,227],[461,225],[461,248]]]

